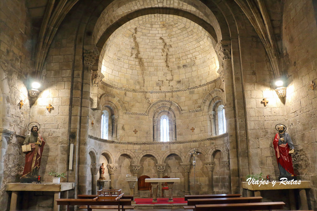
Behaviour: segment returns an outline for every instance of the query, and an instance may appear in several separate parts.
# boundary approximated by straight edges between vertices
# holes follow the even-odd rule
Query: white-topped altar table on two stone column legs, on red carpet
[[[145,179],[145,182],[151,183],[151,185],[152,185],[152,191],[153,191],[152,202],[158,202],[157,201],[158,183],[167,183],[168,202],[173,202],[173,184],[174,184],[174,182],[180,182],[180,178],[153,178],[153,179]]]

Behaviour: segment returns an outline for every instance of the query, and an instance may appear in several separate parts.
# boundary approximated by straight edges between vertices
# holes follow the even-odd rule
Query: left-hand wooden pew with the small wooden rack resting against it
[[[120,199],[120,200],[107,200],[107,201],[97,201],[94,199],[56,199],[57,205],[66,205],[67,211],[69,211],[70,205],[86,205],[87,211],[91,211],[91,206],[116,206],[116,209],[120,211],[125,210],[125,206],[131,206],[131,199]]]

